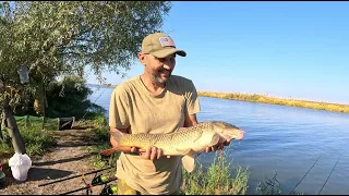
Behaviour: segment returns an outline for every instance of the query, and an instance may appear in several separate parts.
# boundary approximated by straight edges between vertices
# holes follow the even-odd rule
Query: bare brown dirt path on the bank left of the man
[[[27,181],[17,182],[12,177],[9,170],[5,172],[7,183],[0,189],[0,195],[58,195],[85,186],[82,177],[39,186],[51,181],[98,170],[91,163],[93,154],[87,152],[86,148],[84,148],[95,145],[91,133],[87,133],[86,130],[65,130],[55,132],[55,137],[58,138],[57,147],[47,152],[41,159],[32,160]],[[95,174],[85,175],[86,182],[91,183],[94,176]],[[104,185],[93,187],[92,194],[98,195],[103,187]],[[70,195],[86,195],[86,191]]]

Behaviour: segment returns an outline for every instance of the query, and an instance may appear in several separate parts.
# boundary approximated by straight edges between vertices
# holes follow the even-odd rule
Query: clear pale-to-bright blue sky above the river
[[[197,90],[349,103],[349,2],[172,3],[163,29],[186,52],[173,74]],[[104,76],[120,84],[143,71]]]

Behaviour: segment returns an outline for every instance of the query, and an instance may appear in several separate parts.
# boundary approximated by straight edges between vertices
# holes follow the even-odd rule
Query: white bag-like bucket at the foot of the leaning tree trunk
[[[12,176],[16,181],[26,181],[28,171],[32,167],[31,158],[24,154],[15,152],[9,160],[9,167],[11,167]]]

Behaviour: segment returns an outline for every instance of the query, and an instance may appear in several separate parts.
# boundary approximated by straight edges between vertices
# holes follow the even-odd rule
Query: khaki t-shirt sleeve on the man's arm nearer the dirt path
[[[115,88],[110,97],[109,126],[116,128],[128,128],[130,126],[129,96],[121,85]]]

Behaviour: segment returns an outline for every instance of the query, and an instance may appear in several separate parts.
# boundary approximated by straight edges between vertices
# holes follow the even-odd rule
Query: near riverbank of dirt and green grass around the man
[[[119,152],[110,157],[103,157],[100,151],[110,148],[109,126],[104,114],[96,115],[91,120],[74,122],[71,130],[41,130],[39,121],[33,121],[25,125],[19,121],[19,127],[24,140],[28,156],[32,158],[32,168],[28,171],[28,176],[25,182],[17,182],[12,176],[9,167],[9,159],[14,154],[11,146],[8,146],[0,139],[0,156],[4,162],[3,171],[5,173],[5,183],[0,187],[0,195],[26,194],[26,195],[57,195],[68,191],[79,189],[85,185],[81,177],[71,179],[53,183],[47,186],[40,184],[71,177],[77,174],[95,171],[115,166],[119,157]],[[26,126],[26,127],[25,127]],[[31,138],[28,132],[31,130]],[[51,145],[43,145],[45,139],[52,140]],[[33,147],[37,145],[38,147]],[[38,154],[41,152],[41,154]],[[8,152],[7,156],[1,152]],[[34,157],[34,155],[37,155]],[[228,194],[228,195],[244,195],[248,188],[249,168],[232,168],[226,159],[227,152],[219,157],[216,152],[215,161],[210,166],[203,167],[200,162],[193,173],[188,173],[183,170],[183,186],[181,194],[186,195],[212,195],[212,194]],[[234,170],[234,171],[233,171]],[[104,176],[112,177],[116,168],[107,170],[103,173]],[[92,182],[94,175],[86,175],[87,183]],[[113,186],[116,182],[110,183]],[[217,184],[220,184],[217,188]],[[94,194],[101,192],[103,186],[94,186]],[[117,187],[116,187],[117,188]],[[84,194],[85,189],[79,191],[75,194]]]

